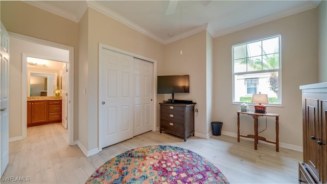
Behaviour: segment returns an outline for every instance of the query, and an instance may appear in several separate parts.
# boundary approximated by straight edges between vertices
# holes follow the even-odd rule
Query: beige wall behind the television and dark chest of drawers
[[[199,109],[195,134],[206,136],[206,31],[165,45],[164,65],[158,75],[190,75],[190,94],[175,94],[178,100],[193,100]],[[183,55],[180,55],[182,49]],[[165,96],[165,97],[163,97]],[[158,95],[167,100],[170,95]]]

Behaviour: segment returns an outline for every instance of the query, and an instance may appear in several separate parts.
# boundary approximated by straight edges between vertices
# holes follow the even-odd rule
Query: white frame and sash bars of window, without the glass
[[[264,41],[267,39],[271,38],[276,38],[278,37],[279,42],[278,42],[278,68],[277,69],[272,69],[272,70],[261,70],[261,71],[250,71],[250,72],[234,72],[234,47],[243,45],[243,44],[250,44],[253,42],[258,42],[258,41]],[[263,56],[263,53],[262,55]],[[244,102],[236,101],[235,100],[235,76],[236,75],[245,75],[245,74],[261,74],[261,73],[271,73],[271,72],[277,72],[278,75],[278,93],[277,93],[277,98],[278,102],[277,103],[269,103],[266,104],[267,106],[277,106],[281,107],[282,106],[282,35],[281,34],[276,34],[268,37],[263,37],[263,38],[258,38],[254,39],[251,41],[245,41],[237,44],[231,45],[231,70],[232,70],[232,104],[242,104]],[[249,57],[247,57],[249,58]],[[263,62],[263,61],[262,61]],[[257,85],[258,87],[258,85]],[[258,90],[258,89],[257,89]],[[249,105],[255,105],[254,103],[248,103]]]

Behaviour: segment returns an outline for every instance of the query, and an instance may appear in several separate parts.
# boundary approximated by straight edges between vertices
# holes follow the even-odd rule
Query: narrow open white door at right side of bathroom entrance
[[[68,125],[68,119],[67,119],[67,110],[68,110],[68,103],[67,103],[67,97],[68,97],[68,67],[67,67],[67,63],[63,64],[62,67],[62,76],[60,78],[60,87],[61,87],[61,98],[62,98],[62,103],[61,103],[61,116],[62,116],[62,120],[61,120],[61,124],[62,126],[67,129],[67,125]]]

